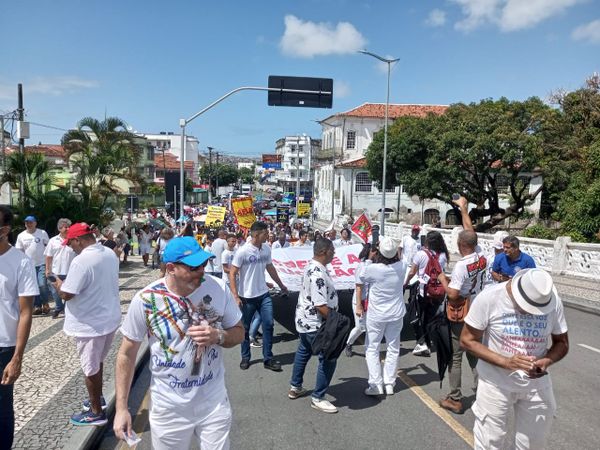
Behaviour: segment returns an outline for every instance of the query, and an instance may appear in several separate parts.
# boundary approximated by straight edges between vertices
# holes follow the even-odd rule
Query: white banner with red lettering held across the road
[[[327,269],[336,290],[354,289],[356,285],[354,273],[360,263],[358,255],[362,247],[361,244],[353,244],[335,248],[335,257]],[[290,291],[300,291],[304,268],[312,257],[311,247],[276,248],[271,251],[273,266]]]

